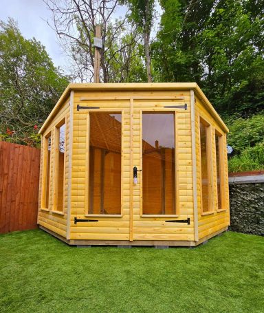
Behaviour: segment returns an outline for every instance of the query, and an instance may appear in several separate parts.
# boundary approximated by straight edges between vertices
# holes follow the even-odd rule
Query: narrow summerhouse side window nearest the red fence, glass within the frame
[[[50,200],[50,153],[52,148],[52,135],[49,133],[44,138],[44,164],[43,164],[43,197],[42,208],[49,208]]]

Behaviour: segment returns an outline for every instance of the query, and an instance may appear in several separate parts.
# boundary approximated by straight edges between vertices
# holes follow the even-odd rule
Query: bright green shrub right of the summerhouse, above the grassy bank
[[[233,147],[235,153],[241,153],[248,147],[264,142],[263,113],[247,119],[230,119],[227,124],[230,130],[228,144]]]

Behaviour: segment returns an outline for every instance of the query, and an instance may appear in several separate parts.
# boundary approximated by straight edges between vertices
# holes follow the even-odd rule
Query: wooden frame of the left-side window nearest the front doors
[[[64,164],[63,164],[63,208],[58,210],[58,161],[59,161],[59,151],[58,144],[60,140],[60,128],[65,124],[65,155],[64,155]],[[61,118],[61,120],[54,127],[54,164],[53,164],[53,206],[52,213],[58,215],[65,215],[65,174],[66,174],[66,137],[67,137],[67,116]]]

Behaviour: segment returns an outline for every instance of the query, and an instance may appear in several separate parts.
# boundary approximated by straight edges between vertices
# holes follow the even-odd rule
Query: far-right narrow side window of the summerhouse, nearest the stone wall
[[[217,210],[223,210],[223,136],[215,131],[217,164]]]

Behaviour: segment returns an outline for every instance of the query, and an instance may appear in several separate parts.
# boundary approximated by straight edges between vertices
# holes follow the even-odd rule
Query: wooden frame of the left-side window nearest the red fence
[[[47,186],[47,149],[48,149],[48,140],[50,138],[50,180]],[[43,136],[43,169],[42,169],[42,194],[41,194],[41,210],[42,211],[50,211],[50,181],[52,175],[52,130],[48,131],[48,133]],[[49,199],[48,199],[48,206],[45,207],[45,203],[47,202],[47,188],[49,189]]]

